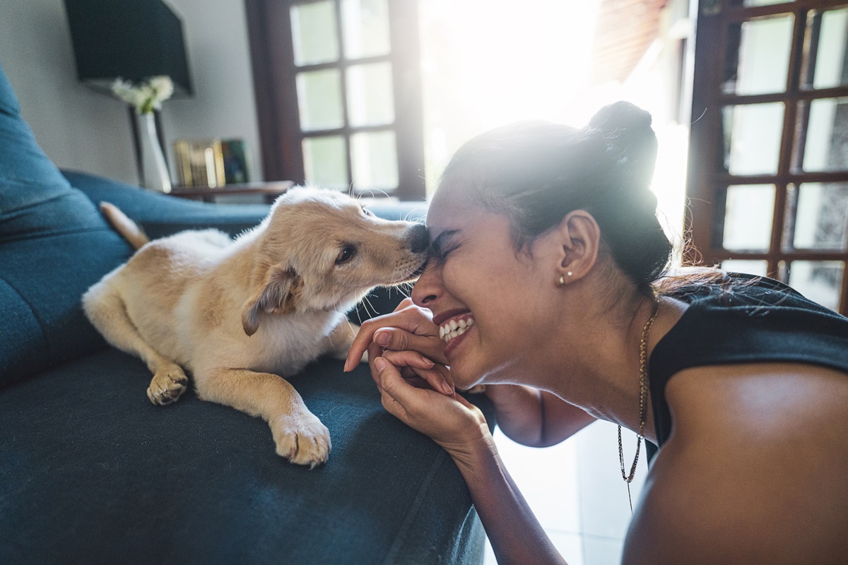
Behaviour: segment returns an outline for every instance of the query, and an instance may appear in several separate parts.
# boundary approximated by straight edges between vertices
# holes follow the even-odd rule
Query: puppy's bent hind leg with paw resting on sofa
[[[136,326],[126,314],[124,301],[108,280],[93,285],[82,296],[82,307],[94,327],[122,352],[142,358],[147,364],[153,379],[148,387],[148,398],[153,404],[165,406],[176,400],[186,391],[188,378],[176,363],[162,357],[148,346],[138,335]]]

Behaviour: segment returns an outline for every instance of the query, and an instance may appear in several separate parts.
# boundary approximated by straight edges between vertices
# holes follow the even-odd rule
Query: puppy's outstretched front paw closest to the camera
[[[330,457],[330,430],[312,413],[281,416],[271,421],[276,453],[298,465],[326,463]]]

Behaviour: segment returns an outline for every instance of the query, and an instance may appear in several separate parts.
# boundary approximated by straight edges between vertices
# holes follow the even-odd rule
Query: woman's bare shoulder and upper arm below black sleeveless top
[[[844,559],[848,514],[833,502],[848,500],[848,439],[834,430],[848,426],[848,375],[786,363],[692,368],[668,398],[675,428],[625,562]]]

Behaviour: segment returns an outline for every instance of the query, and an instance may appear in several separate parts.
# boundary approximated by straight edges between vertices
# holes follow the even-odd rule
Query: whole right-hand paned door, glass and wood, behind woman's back
[[[689,259],[848,313],[848,3],[700,3]],[[695,251],[697,250],[697,251]]]

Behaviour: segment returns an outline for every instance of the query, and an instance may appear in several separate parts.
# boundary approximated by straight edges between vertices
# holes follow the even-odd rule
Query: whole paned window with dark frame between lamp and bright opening
[[[247,8],[265,178],[423,199],[416,3]]]

